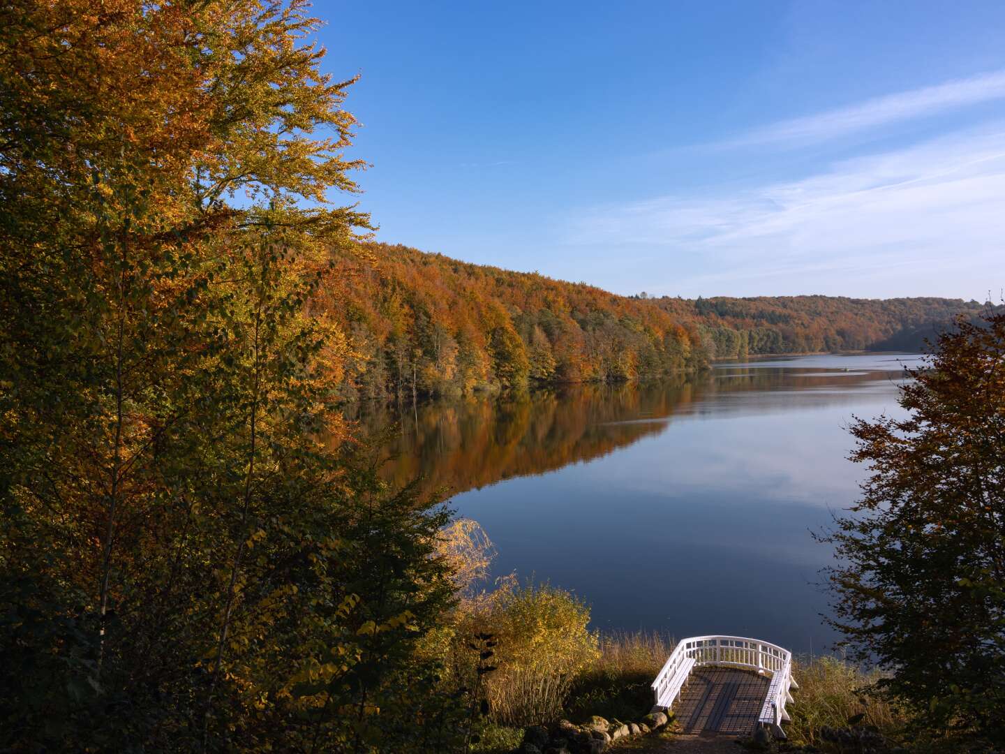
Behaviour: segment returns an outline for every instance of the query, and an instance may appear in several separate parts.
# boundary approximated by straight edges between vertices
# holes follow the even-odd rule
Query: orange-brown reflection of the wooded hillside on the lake
[[[396,425],[382,453],[388,481],[403,485],[421,477],[429,488],[456,494],[605,455],[659,434],[674,414],[703,410],[701,404],[711,407],[710,398],[716,396],[762,392],[770,399],[773,391],[828,387],[844,392],[886,376],[740,366],[651,382],[578,384],[408,404],[400,413],[394,405],[361,405],[350,418],[359,421],[364,435]],[[780,395],[774,403],[784,408],[790,401]]]

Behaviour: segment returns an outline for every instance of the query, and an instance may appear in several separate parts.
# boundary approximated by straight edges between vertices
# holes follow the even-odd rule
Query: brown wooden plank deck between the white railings
[[[769,681],[750,671],[695,668],[673,705],[684,733],[749,736],[758,722]]]

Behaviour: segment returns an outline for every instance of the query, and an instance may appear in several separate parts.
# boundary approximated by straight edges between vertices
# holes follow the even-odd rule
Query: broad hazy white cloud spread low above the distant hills
[[[737,292],[738,278],[761,293],[833,292],[840,284],[868,295],[870,279],[907,282],[916,295],[951,280],[957,291],[974,280],[997,289],[1005,282],[1005,124],[846,160],[800,180],[592,207],[566,231],[570,243],[638,245],[666,256],[659,266],[677,290],[684,263],[694,270],[688,285],[705,293]]]

